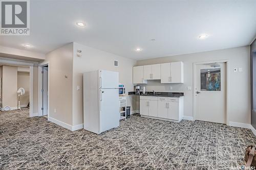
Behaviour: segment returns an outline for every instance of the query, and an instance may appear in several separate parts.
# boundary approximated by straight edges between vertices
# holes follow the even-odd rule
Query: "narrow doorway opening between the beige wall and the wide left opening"
[[[38,66],[38,116],[49,117],[49,66],[48,63],[41,63]]]

